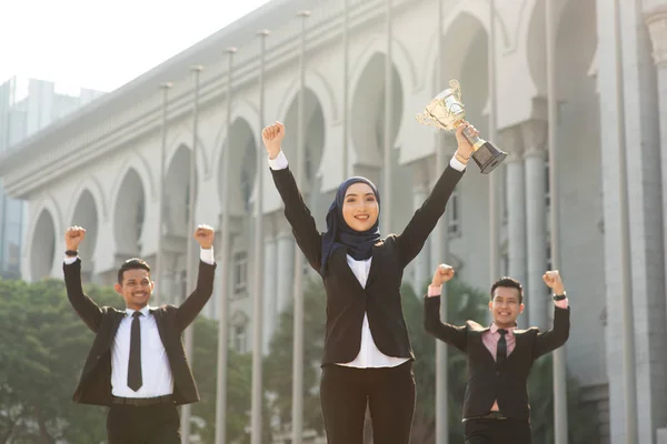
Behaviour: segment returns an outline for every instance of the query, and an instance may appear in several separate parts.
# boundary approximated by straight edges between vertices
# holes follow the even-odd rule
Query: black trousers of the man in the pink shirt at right
[[[466,444],[531,444],[530,423],[520,420],[468,420]]]

